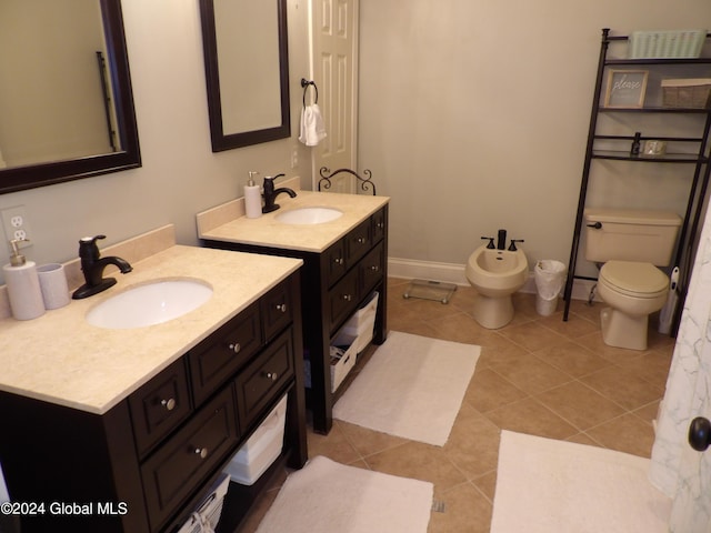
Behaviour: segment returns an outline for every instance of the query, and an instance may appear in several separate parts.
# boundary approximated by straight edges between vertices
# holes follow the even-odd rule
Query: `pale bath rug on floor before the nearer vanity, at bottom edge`
[[[433,490],[319,455],[287,477],[257,533],[427,533]]]

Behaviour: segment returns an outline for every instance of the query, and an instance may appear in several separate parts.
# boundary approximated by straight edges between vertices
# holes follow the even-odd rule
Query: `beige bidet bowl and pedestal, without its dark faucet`
[[[528,274],[523,251],[495,250],[482,245],[469,257],[465,274],[479,293],[474,301],[474,320],[490,330],[511,322],[511,295],[523,286]]]

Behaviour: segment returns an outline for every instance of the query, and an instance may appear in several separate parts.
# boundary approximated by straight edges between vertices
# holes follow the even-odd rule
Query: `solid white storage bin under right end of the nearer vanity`
[[[286,421],[287,395],[279,401],[224,469],[232,481],[242,485],[252,485],[271,466],[284,444]]]

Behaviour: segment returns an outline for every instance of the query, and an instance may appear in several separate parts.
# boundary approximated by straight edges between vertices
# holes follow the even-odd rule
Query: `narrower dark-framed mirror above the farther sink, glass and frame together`
[[[291,135],[287,0],[200,0],[212,151]]]

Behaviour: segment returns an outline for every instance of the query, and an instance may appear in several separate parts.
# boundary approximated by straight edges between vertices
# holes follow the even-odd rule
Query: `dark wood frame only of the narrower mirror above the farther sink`
[[[289,107],[289,42],[287,34],[287,0],[278,1],[279,31],[279,79],[281,93],[281,124],[263,130],[224,133],[222,124],[222,100],[218,72],[218,46],[214,26],[214,0],[200,0],[204,70],[208,88],[208,113],[212,151],[221,152],[233,148],[249,147],[261,142],[291,137]]]

